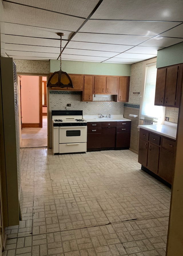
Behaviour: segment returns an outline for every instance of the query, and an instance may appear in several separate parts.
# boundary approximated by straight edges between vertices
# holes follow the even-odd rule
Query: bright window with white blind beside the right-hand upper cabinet
[[[165,107],[154,106],[156,89],[156,63],[146,65],[144,98],[140,119],[161,123],[164,118]]]

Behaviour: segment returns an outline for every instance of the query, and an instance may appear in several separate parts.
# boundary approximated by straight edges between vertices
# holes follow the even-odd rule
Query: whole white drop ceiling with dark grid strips
[[[133,64],[183,42],[182,0],[3,0],[14,59]]]

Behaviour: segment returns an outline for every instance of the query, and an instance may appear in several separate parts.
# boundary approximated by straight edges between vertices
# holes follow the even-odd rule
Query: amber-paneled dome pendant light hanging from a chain
[[[47,87],[70,87],[70,88],[74,88],[73,83],[71,78],[69,77],[69,75],[66,72],[63,72],[61,70],[61,45],[62,45],[62,36],[64,36],[64,33],[57,33],[58,36],[60,36],[60,70],[54,72],[48,82],[47,82]]]

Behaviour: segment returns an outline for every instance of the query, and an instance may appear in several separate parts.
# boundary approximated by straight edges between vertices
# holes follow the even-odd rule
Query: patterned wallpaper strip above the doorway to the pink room
[[[43,60],[14,60],[17,73],[49,74],[49,61]]]

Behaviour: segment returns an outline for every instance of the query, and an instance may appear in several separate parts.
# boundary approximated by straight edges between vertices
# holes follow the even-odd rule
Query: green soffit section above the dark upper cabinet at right
[[[183,63],[183,42],[158,51],[157,68]]]

